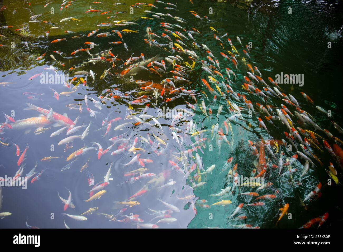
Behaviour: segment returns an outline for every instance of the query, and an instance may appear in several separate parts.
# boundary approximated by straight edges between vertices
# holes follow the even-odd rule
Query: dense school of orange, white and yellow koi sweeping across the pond
[[[73,8],[74,2],[64,1],[61,4],[61,10]],[[138,228],[168,227],[168,224],[177,221],[176,217],[180,209],[174,204],[168,203],[169,199],[162,200],[162,197],[166,192],[165,189],[179,187],[182,188],[181,193],[184,195],[178,199],[186,202],[187,207],[184,209],[191,208],[193,214],[197,214],[199,209],[213,209],[232,204],[234,207],[230,208],[232,210],[227,211],[225,216],[230,220],[232,227],[259,228],[257,225],[245,223],[245,219],[253,213],[249,209],[258,209],[254,211],[263,212],[265,211],[264,207],[267,207],[266,205],[269,205],[270,202],[277,202],[277,205],[281,206],[280,215],[275,217],[275,225],[282,220],[286,223],[286,218],[283,217],[287,215],[288,211],[291,211],[292,204],[287,202],[282,194],[282,189],[277,187],[278,184],[289,183],[292,187],[301,187],[302,177],[307,174],[310,167],[317,169],[320,166],[325,168],[335,183],[339,183],[338,171],[335,166],[342,167],[343,151],[340,146],[343,142],[333,134],[343,134],[343,129],[333,121],[332,124],[336,131],[333,134],[327,129],[321,128],[316,119],[303,110],[306,106],[314,106],[314,101],[305,93],[297,90],[293,92],[294,96],[283,93],[284,89],[288,89],[288,87],[279,86],[271,77],[266,77],[266,73],[263,73],[262,69],[260,71],[255,66],[253,50],[248,45],[244,46],[238,36],[235,41],[231,40],[230,37],[235,35],[218,32],[210,26],[209,17],[202,17],[195,11],[189,11],[189,17],[182,18],[162,13],[177,11],[177,5],[173,3],[155,1],[156,6],[147,3],[136,3],[131,6],[139,9],[152,8],[145,10],[146,16],[142,16],[141,19],[143,22],[160,20],[159,25],[163,32],[160,32],[161,27],[147,27],[146,31],[139,31],[138,28],[144,25],[142,21],[113,21],[120,14],[115,12],[115,6],[125,3],[114,3],[112,10],[103,10],[101,2],[92,2],[91,4],[92,6],[89,9],[86,8],[85,12],[104,15],[104,23],[98,24],[99,28],[94,31],[82,35],[75,33],[76,36],[71,38],[85,39],[84,44],[89,46],[88,48],[75,48],[73,52],[62,52],[63,43],[70,41],[69,38],[61,37],[51,40],[51,43],[61,45],[61,51],[51,52],[50,57],[61,68],[70,67],[69,75],[73,74],[74,77],[64,85],[55,84],[54,89],[51,88],[51,84],[49,84],[50,86],[46,85],[44,89],[46,94],[24,92],[23,95],[26,95],[33,103],[34,101],[42,103],[44,95],[48,96],[50,93],[59,100],[61,95],[69,97],[76,90],[80,93],[85,92],[88,85],[91,86],[97,79],[112,78],[118,80],[120,84],[107,88],[98,97],[86,94],[82,101],[66,106],[70,110],[79,110],[81,115],[84,114],[82,113],[83,108],[86,108],[90,117],[82,118],[84,120],[82,125],[80,116],[72,120],[66,113],[60,114],[64,112],[61,111],[63,110],[61,107],[48,108],[48,105],[38,107],[27,103],[28,107],[25,110],[35,110],[39,116],[15,120],[4,113],[5,121],[0,126],[2,134],[11,130],[24,130],[29,133],[32,128],[37,128],[34,131],[36,135],[53,131],[54,127],[61,127],[52,132],[50,137],[51,142],[64,146],[65,152],[72,148],[74,143],[83,141],[84,146],[70,153],[59,172],[76,169],[78,165],[75,162],[81,160],[82,155],[86,156],[85,160],[87,161],[81,167],[80,172],[86,173],[92,189],[86,192],[89,193],[89,198],[85,202],[97,201],[98,204],[101,204],[99,199],[108,190],[118,191],[122,186],[129,186],[135,190],[134,185],[138,183],[142,185],[139,190],[135,190],[135,193],[126,199],[120,199],[121,194],[117,193],[117,201],[113,202],[113,206],[108,209],[107,213],[100,213],[98,207],[91,207],[82,214],[75,213],[73,210],[75,205],[72,202],[73,193],[68,189],[61,189],[64,195],[68,195],[68,197],[62,198],[60,192],[56,191],[56,197],[58,196],[64,205],[63,210],[66,213],[63,215],[65,218],[86,221],[88,218],[86,216],[96,212],[110,221],[131,223]],[[63,12],[61,13],[63,15]],[[111,13],[116,15],[110,16]],[[59,24],[52,24],[39,20],[41,15],[33,15],[28,22],[45,22],[51,26],[51,29],[62,29],[66,22],[80,21],[77,17],[70,16],[61,19]],[[195,27],[189,27],[188,20],[190,19],[198,19],[202,23],[202,30],[198,31]],[[125,26],[125,29],[119,30],[122,26]],[[11,28],[11,26],[0,27],[2,31],[7,28]],[[104,30],[100,31],[102,28]],[[155,29],[156,31],[154,31]],[[65,32],[66,34],[74,33]],[[145,42],[146,47],[142,48],[139,55],[130,55],[129,53],[130,49],[125,40],[130,33],[138,34],[135,35],[135,38],[139,36]],[[212,35],[204,35],[209,33]],[[45,34],[48,39],[49,31]],[[91,41],[94,37],[99,41],[96,42],[97,44]],[[103,43],[101,39],[105,37],[111,37],[117,41]],[[206,45],[206,41],[210,39],[218,44],[217,48],[209,48]],[[248,41],[246,43],[248,44]],[[120,49],[118,49],[119,46]],[[100,47],[107,48],[99,52],[96,48]],[[114,51],[118,51],[118,54],[115,55]],[[63,56],[67,53],[73,56],[79,52],[86,52],[89,58],[77,65],[68,66],[67,61],[62,62],[63,58],[57,60],[54,56]],[[44,52],[37,57],[37,61],[44,60],[47,53],[50,52]],[[148,54],[154,56],[145,59],[144,55]],[[127,55],[129,57],[125,59]],[[85,70],[85,68],[100,68],[105,64],[108,64],[108,67],[104,69],[104,73],[99,78],[96,77],[93,70]],[[53,66],[46,67],[45,70],[55,74],[58,71]],[[117,70],[119,72],[116,72]],[[41,74],[45,73],[37,73],[29,80],[36,81],[35,79]],[[150,80],[137,78],[148,75],[150,75]],[[265,81],[267,79],[269,83]],[[289,81],[291,83],[292,80]],[[122,91],[122,85],[129,85],[132,91]],[[63,89],[63,92],[59,93],[55,89]],[[251,100],[259,102],[254,104]],[[177,104],[174,101],[181,103],[185,101],[185,106],[176,108]],[[125,115],[115,117],[112,104],[118,103],[127,104],[127,111]],[[166,113],[157,114],[157,108],[167,106],[174,106],[167,112],[169,116]],[[328,113],[326,109],[319,106],[316,108],[323,114]],[[212,109],[216,109],[216,111],[214,112]],[[201,119],[197,120],[196,118]],[[248,123],[248,118],[252,118],[256,124]],[[95,128],[92,125],[93,123],[95,125],[95,122],[101,122],[102,127]],[[209,123],[210,126],[203,127],[204,123]],[[261,129],[255,127],[257,125]],[[242,142],[237,139],[238,136],[235,132],[240,129],[251,133],[250,140]],[[273,132],[277,133],[280,130],[284,131],[285,139],[279,140],[272,136]],[[93,138],[97,131],[102,132],[103,138]],[[94,134],[89,134],[90,132],[94,132]],[[324,135],[326,136],[324,137]],[[31,151],[34,152],[34,148],[29,149],[29,144],[26,147],[19,146],[4,137],[1,138],[0,143],[5,147],[15,147],[14,155],[19,157],[17,166],[20,168],[13,176],[13,180],[23,177],[25,174],[24,161]],[[88,147],[87,143],[91,144],[91,147]],[[239,167],[235,162],[235,157],[231,156],[236,144],[239,144],[247,152],[247,158],[251,160],[249,167]],[[209,146],[213,146],[218,156],[227,156],[225,164],[221,164],[220,167],[218,165],[205,166],[202,157],[206,157],[204,150],[208,152]],[[330,165],[323,164],[317,156],[324,152],[323,148],[332,156]],[[230,154],[223,154],[223,150]],[[119,157],[127,160],[126,164],[119,165],[118,170],[122,172],[122,176],[115,178],[121,180],[119,184],[111,182],[114,180],[111,178],[111,174],[114,172],[115,162],[109,165],[104,179],[100,176],[100,170],[96,170],[97,173],[94,175],[87,170],[90,159],[99,160],[103,156],[113,156],[110,157],[111,160],[117,160]],[[168,164],[156,167],[155,164],[159,162],[160,156],[165,157]],[[60,159],[61,157],[49,156],[40,161],[48,161],[52,164],[55,160]],[[303,165],[299,163],[300,160],[304,161]],[[303,168],[301,170],[293,168],[296,163],[297,167]],[[5,164],[5,166],[7,165],[10,164]],[[31,183],[37,183],[37,180],[44,178],[43,175],[47,168],[38,170],[37,166],[36,164],[31,171],[24,175]],[[209,194],[206,198],[199,199],[195,194],[198,190],[202,190],[207,178],[212,173],[225,178],[224,188],[219,192]],[[240,183],[240,176],[254,179],[263,178],[264,182]],[[94,181],[97,183],[94,184]],[[327,183],[327,181],[322,182]],[[303,207],[309,207],[321,196],[321,187],[322,183],[319,182],[314,184],[310,191],[303,189],[303,194],[299,194]],[[191,191],[188,189],[192,189],[193,193],[190,194]],[[154,204],[154,207],[150,205],[151,208],[144,209],[147,215],[143,219],[142,216],[134,214],[134,211],[142,201],[144,202],[147,194],[154,195],[156,202],[149,202]],[[174,196],[172,195],[172,197]],[[0,218],[3,218],[11,213],[1,212],[1,199],[0,187]],[[133,212],[131,215],[125,213],[127,208],[132,209],[130,210]],[[278,212],[278,209],[279,207],[273,211]],[[309,228],[315,225],[320,227],[328,216],[328,213],[323,213],[322,216],[309,220],[303,227]],[[64,225],[69,228],[66,222]]]

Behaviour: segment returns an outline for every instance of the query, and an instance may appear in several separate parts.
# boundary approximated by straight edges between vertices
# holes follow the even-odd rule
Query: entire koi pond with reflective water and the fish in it
[[[3,1],[1,228],[339,225],[341,2],[100,1]]]

